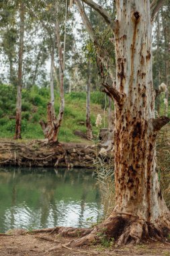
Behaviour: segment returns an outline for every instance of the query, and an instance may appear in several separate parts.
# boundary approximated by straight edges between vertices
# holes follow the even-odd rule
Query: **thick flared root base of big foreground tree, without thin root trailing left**
[[[91,232],[74,241],[72,246],[80,247],[100,243],[103,239],[114,238],[118,245],[138,244],[148,240],[165,241],[170,232],[170,225],[144,222],[130,216],[115,216],[108,218],[102,224],[95,226]]]

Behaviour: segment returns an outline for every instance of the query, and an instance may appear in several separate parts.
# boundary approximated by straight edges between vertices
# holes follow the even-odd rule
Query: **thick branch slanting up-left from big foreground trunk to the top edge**
[[[113,21],[108,11],[105,11],[105,9],[101,7],[101,5],[97,5],[97,3],[93,2],[93,0],[83,0],[83,2],[87,3],[87,5],[95,9],[95,11],[97,11],[97,13],[99,13],[101,17],[103,17],[105,22],[111,26],[112,30],[114,30],[116,22]]]

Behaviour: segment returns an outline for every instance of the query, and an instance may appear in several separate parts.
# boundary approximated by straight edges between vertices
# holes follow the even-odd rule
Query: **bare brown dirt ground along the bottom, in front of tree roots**
[[[49,232],[28,233],[5,235],[0,234],[0,255],[15,255],[15,256],[67,256],[67,255],[163,255],[170,256],[170,243],[156,243],[150,241],[147,244],[136,246],[116,247],[110,245],[105,248],[101,245],[84,246],[81,248],[71,248],[69,242],[73,238],[63,238],[57,234],[50,234]]]

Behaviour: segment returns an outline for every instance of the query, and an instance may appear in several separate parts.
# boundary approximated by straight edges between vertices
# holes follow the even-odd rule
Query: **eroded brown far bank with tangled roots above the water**
[[[47,143],[46,140],[0,140],[0,166],[93,168],[100,148],[77,143]],[[109,152],[105,161],[112,157]]]

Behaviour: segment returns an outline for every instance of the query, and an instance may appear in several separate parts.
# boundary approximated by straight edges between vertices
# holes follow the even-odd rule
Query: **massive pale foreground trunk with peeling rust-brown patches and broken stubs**
[[[150,1],[141,4],[140,0],[117,0],[115,24],[102,7],[91,0],[83,1],[103,16],[115,34],[116,84],[103,86],[116,102],[116,201],[109,218],[76,244],[99,241],[99,232],[114,237],[118,244],[139,243],[147,238],[161,240],[170,231],[170,214],[159,187],[155,140],[170,119],[155,119]]]

